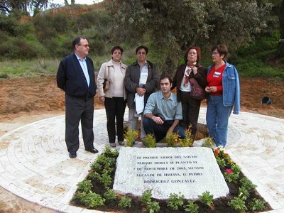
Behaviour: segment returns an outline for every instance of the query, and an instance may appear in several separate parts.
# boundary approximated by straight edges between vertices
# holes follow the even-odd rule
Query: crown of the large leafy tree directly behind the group
[[[163,56],[163,69],[173,70],[190,45],[224,43],[231,49],[250,43],[266,26],[271,4],[251,0],[105,0],[114,20],[114,33],[151,43]],[[122,31],[121,31],[122,29]],[[123,36],[121,36],[123,35]]]

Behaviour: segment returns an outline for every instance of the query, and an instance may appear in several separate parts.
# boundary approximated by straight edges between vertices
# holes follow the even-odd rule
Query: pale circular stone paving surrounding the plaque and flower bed
[[[205,113],[206,109],[200,109],[200,123],[205,123]],[[284,119],[270,116],[241,112],[229,119],[226,151],[258,185],[258,192],[275,209],[271,212],[284,212],[283,129]],[[108,143],[104,109],[94,111],[94,137],[94,146],[102,153]],[[69,205],[77,182],[84,180],[96,158],[84,151],[80,133],[77,158],[70,159],[65,146],[65,116],[44,119],[1,136],[0,185],[59,212],[97,212]]]

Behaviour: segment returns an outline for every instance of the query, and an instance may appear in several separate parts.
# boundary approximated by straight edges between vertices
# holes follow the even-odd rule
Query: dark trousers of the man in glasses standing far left
[[[65,94],[65,141],[68,152],[79,148],[79,123],[81,121],[84,148],[94,148],[94,97],[81,98]]]

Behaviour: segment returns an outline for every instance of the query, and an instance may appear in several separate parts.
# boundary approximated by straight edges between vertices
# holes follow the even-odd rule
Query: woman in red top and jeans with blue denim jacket
[[[240,110],[239,74],[234,65],[224,61],[228,54],[226,45],[212,48],[214,65],[207,70],[207,114],[209,136],[216,146],[226,146],[228,121],[234,106],[234,114]]]

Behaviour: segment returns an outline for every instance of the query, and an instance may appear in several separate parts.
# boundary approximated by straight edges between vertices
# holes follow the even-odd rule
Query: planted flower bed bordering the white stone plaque
[[[196,201],[185,200],[182,195],[171,195],[168,200],[151,198],[146,190],[142,197],[117,195],[112,186],[119,151],[108,146],[104,153],[92,163],[87,178],[78,183],[78,189],[71,204],[97,209],[102,212],[263,212],[271,207],[258,195],[238,165],[223,148],[213,150],[219,168],[229,187],[229,195],[212,200],[209,192],[199,195]]]

